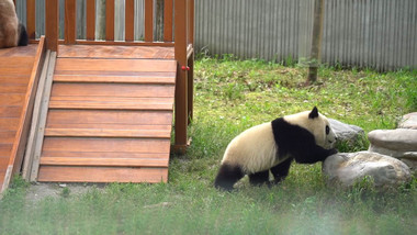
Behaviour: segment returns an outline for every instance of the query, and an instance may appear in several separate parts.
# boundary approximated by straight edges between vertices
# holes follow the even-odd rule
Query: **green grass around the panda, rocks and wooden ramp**
[[[416,234],[417,180],[379,192],[365,179],[350,190],[327,187],[320,164],[296,165],[283,183],[217,191],[213,179],[228,142],[239,132],[317,105],[329,118],[365,132],[394,128],[417,110],[417,71],[306,70],[232,56],[195,63],[192,145],[171,156],[169,183],[113,183],[83,194],[25,198],[15,179],[0,202],[0,234]],[[340,146],[360,150],[368,146]]]

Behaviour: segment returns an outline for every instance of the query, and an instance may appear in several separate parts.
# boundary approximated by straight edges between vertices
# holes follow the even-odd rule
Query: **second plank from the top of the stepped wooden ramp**
[[[174,60],[58,58],[57,71],[176,71]]]

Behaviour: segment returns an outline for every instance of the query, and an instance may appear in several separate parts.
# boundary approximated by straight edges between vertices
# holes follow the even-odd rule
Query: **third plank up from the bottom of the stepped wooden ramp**
[[[45,137],[44,152],[169,153],[166,138]]]

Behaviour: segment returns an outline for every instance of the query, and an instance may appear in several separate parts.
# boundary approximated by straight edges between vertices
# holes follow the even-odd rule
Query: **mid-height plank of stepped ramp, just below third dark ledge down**
[[[82,116],[80,119],[80,116]],[[49,110],[46,127],[53,124],[171,125],[169,111]]]

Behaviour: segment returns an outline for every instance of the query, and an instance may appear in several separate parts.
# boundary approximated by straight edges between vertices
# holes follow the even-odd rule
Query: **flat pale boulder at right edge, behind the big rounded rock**
[[[414,171],[417,167],[417,130],[375,130],[368,134],[369,150],[402,159]]]

